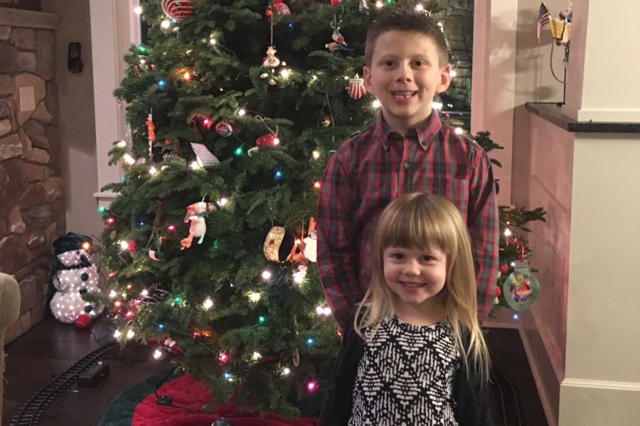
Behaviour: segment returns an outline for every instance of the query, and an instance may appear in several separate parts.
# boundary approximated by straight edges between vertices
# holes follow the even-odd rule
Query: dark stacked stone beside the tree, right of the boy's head
[[[474,0],[446,0],[444,10],[434,13],[449,42],[449,61],[456,71],[447,94],[464,99],[471,109],[471,62],[474,51]],[[446,108],[445,108],[446,109]]]

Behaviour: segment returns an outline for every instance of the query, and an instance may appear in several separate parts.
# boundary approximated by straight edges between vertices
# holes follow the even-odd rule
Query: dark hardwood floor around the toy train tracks
[[[92,324],[90,331],[93,334],[48,317],[7,345],[2,425],[9,426],[21,405],[55,376],[100,347],[95,339],[102,336],[108,327],[109,320],[105,315]],[[486,339],[494,364],[508,375],[521,395],[525,414],[525,422],[521,426],[547,426],[518,331],[490,329]],[[110,376],[101,386],[72,386],[70,391],[55,398],[38,425],[97,425],[102,412],[119,393],[171,367],[166,359],[153,359],[155,350],[154,344],[130,344],[124,350],[117,351],[107,359]],[[495,415],[493,397],[492,400]],[[496,426],[500,425],[501,422],[496,422]]]

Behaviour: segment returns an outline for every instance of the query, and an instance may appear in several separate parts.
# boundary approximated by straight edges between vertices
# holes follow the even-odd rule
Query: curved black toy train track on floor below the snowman
[[[66,371],[56,377],[51,383],[48,383],[36,395],[33,395],[28,402],[24,403],[18,413],[11,419],[10,426],[35,426],[40,421],[44,410],[53,402],[56,396],[63,393],[76,380],[78,375],[85,369],[89,368],[95,362],[101,360],[111,351],[117,348],[117,343],[111,342],[105,346],[92,351],[87,356],[79,359]]]

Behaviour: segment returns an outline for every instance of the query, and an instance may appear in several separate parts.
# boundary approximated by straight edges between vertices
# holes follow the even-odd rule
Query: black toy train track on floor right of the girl
[[[491,366],[491,389],[496,398],[496,426],[526,426],[523,404],[513,383],[500,368]]]

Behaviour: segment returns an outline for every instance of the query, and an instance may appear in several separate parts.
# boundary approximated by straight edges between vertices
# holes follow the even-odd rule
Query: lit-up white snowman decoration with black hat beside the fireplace
[[[51,261],[51,282],[56,293],[49,304],[60,322],[86,328],[102,313],[102,306],[82,300],[82,293],[97,292],[98,273],[89,260],[92,239],[69,232],[53,241],[55,258]]]

